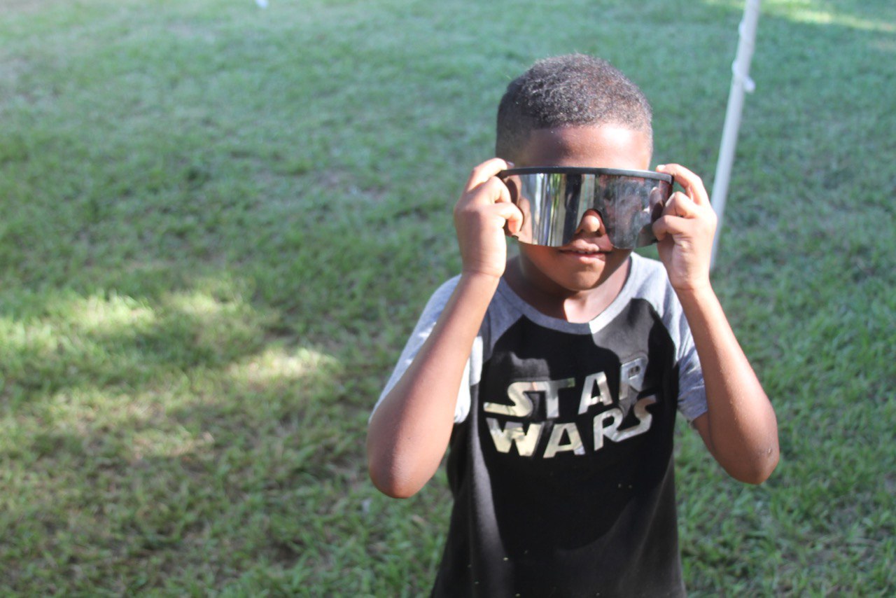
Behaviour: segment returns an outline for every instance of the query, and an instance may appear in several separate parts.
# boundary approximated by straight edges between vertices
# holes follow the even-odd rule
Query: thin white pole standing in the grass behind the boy
[[[725,126],[722,130],[722,142],[719,147],[719,162],[716,164],[716,177],[712,183],[711,204],[719,215],[719,226],[712,239],[711,267],[716,264],[716,253],[719,251],[719,235],[722,230],[722,217],[725,213],[725,199],[728,195],[728,182],[731,179],[731,165],[734,163],[734,151],[737,146],[737,130],[740,128],[740,115],[744,108],[744,94],[752,93],[755,83],[750,79],[750,61],[753,59],[753,48],[756,39],[756,24],[759,22],[760,0],[746,0],[744,20],[737,28],[737,56],[731,65],[731,91],[728,93],[728,110],[725,113]]]

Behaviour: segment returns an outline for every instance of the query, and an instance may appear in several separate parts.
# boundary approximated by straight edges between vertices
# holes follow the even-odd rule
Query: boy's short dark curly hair
[[[513,160],[529,134],[555,126],[620,125],[648,135],[642,91],[606,60],[583,54],[539,60],[513,80],[498,105],[495,154]]]

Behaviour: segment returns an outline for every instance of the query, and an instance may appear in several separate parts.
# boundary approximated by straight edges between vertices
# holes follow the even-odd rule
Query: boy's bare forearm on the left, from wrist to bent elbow
[[[406,498],[429,481],[451,438],[454,408],[473,341],[495,294],[494,276],[463,274],[433,331],[367,430],[371,480]]]

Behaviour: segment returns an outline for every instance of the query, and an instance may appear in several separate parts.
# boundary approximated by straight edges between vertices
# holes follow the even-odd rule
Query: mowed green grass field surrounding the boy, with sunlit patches
[[[0,0],[0,594],[419,595],[366,419],[535,59],[711,187],[743,4]],[[896,593],[896,4],[766,0],[714,284],[771,480],[679,430],[694,595]],[[650,255],[650,250],[645,251]]]

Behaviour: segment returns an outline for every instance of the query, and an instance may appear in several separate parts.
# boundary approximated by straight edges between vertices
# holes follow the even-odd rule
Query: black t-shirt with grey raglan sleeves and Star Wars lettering
[[[429,300],[383,390],[435,325]],[[700,362],[659,262],[637,254],[583,324],[502,280],[474,342],[449,445],[454,498],[434,595],[684,595],[672,438],[706,411]]]

